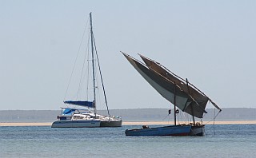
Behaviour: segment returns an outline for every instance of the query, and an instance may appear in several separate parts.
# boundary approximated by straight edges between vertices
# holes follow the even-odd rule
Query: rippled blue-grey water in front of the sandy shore
[[[125,136],[140,127],[0,127],[0,157],[256,157],[256,124],[206,125],[206,136]]]

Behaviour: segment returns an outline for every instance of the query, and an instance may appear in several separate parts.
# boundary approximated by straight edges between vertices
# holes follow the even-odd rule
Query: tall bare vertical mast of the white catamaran
[[[91,42],[91,57],[93,65],[93,81],[94,81],[94,114],[96,117],[96,85],[95,85],[95,69],[94,69],[94,33],[93,33],[93,24],[90,12],[90,42]]]

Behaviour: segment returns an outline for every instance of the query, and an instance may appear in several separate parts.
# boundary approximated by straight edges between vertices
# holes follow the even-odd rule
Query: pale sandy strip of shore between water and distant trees
[[[0,122],[0,126],[50,126],[52,122],[42,122],[42,123],[27,123],[27,122],[22,122],[22,123],[2,123]],[[123,122],[123,125],[152,125],[152,124],[162,124],[162,125],[167,125],[167,124],[172,124],[170,121],[137,121],[137,122]],[[204,124],[256,124],[256,120],[234,120],[234,121],[210,121],[207,122],[205,121]]]

